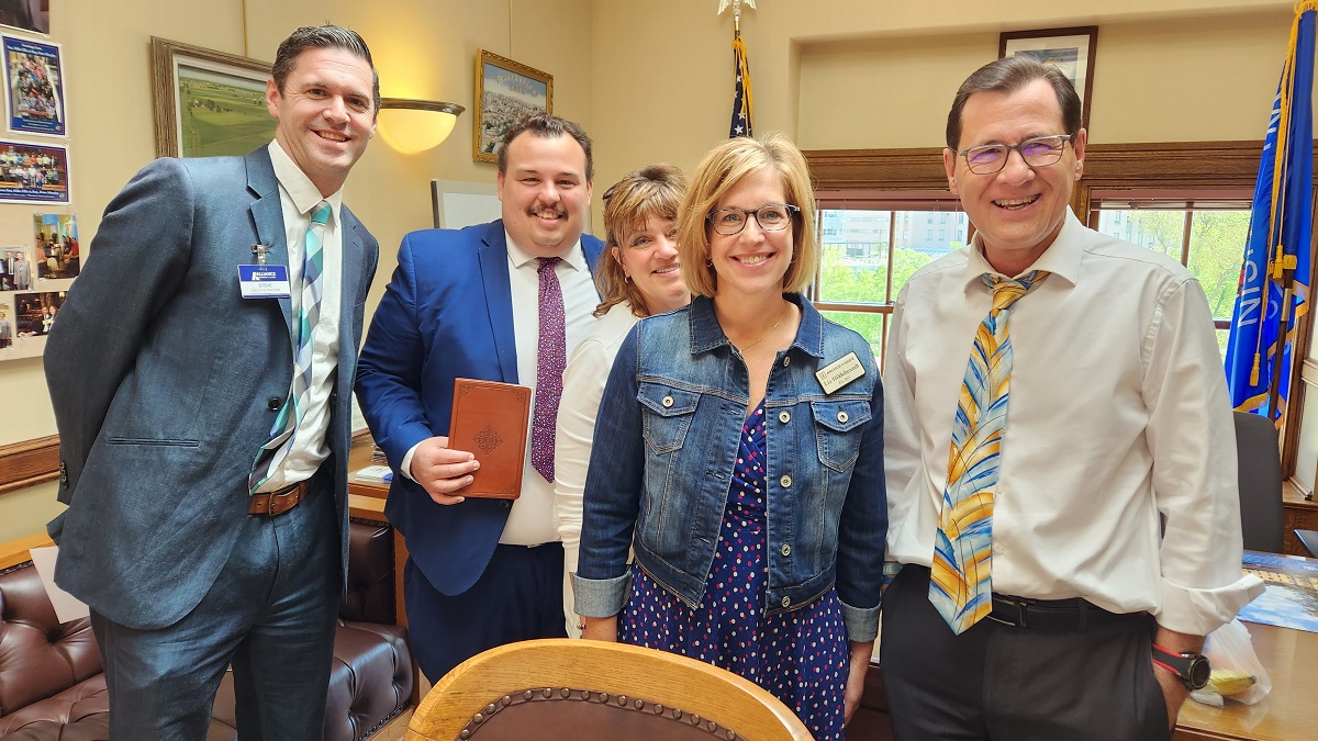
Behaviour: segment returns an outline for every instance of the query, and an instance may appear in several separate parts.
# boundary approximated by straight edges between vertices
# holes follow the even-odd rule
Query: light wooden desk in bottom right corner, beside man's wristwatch
[[[1185,703],[1176,741],[1249,738],[1298,741],[1318,737],[1318,633],[1246,622],[1253,650],[1268,670],[1272,692],[1256,705],[1227,700],[1210,708]]]

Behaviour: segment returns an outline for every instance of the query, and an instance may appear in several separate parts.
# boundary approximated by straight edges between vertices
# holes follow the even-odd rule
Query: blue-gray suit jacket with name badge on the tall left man
[[[352,381],[380,247],[343,214],[343,312],[328,431],[343,562]],[[55,580],[105,617],[171,625],[202,600],[249,517],[248,473],[289,393],[287,299],[243,299],[252,245],[287,264],[269,152],[162,158],[105,210],[46,341],[59,427]],[[330,471],[327,472],[326,468]],[[347,579],[347,575],[344,575]]]

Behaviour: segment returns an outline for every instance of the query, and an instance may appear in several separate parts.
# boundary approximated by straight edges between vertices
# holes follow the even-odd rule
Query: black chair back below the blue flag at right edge
[[[1240,530],[1251,551],[1280,554],[1285,533],[1277,429],[1257,414],[1235,413],[1240,479]]]

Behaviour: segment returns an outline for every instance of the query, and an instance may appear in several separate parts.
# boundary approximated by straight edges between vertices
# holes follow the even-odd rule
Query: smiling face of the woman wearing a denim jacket
[[[774,167],[760,167],[728,189],[714,204],[721,208],[755,211],[771,203],[787,203],[783,178]],[[714,297],[762,297],[783,291],[783,276],[792,264],[792,225],[767,232],[750,216],[735,235],[721,235],[712,227],[709,260],[718,276]]]

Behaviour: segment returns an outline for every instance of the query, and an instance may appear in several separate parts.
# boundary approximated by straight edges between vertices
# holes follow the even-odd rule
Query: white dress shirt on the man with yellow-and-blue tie
[[[1242,575],[1235,427],[1203,289],[1070,211],[1029,269],[1052,276],[1011,312],[992,589],[1147,610],[1205,636],[1263,587]],[[992,302],[985,273],[977,235],[898,297],[883,376],[890,560],[933,556],[957,397]]]

